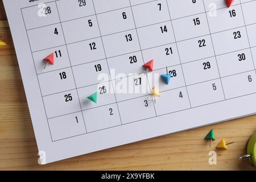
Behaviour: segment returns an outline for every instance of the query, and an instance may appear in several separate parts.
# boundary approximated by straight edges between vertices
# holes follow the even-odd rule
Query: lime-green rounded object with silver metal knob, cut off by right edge
[[[251,135],[247,144],[247,154],[240,157],[240,159],[250,159],[251,165],[256,167],[256,132]]]

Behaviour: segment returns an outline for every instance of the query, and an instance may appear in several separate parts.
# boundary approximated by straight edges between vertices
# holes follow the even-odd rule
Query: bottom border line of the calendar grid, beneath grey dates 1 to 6
[[[190,109],[196,109],[196,108],[202,107],[202,106],[217,104],[217,103],[219,103],[219,102],[225,102],[225,101],[233,100],[233,99],[235,99],[235,98],[246,97],[246,96],[250,96],[250,95],[253,95],[253,94],[256,94],[256,92],[255,92],[255,93],[250,93],[250,94],[245,94],[245,95],[239,96],[239,97],[228,98],[228,99],[226,99],[226,100],[221,100],[221,101],[212,102],[212,103],[210,103],[210,104],[205,104],[205,105],[200,105],[200,106],[191,107],[191,108],[188,108],[188,109],[183,109],[183,110],[179,110],[179,111],[174,111],[174,112],[172,112],[172,113],[167,113],[167,114],[158,115],[157,117],[162,117],[162,116],[168,115],[168,114],[174,114],[174,113],[177,113],[177,112],[180,112],[180,111],[185,111],[185,110],[190,110]],[[254,115],[254,114],[256,114],[256,113],[250,113],[250,114],[246,114],[246,115],[241,115],[241,117],[246,117],[246,116],[248,116],[248,115]],[[147,118],[147,119],[152,119],[152,118],[157,118],[157,117],[150,117],[150,118]],[[236,119],[236,118],[237,118],[237,117],[234,117],[234,118],[230,118],[230,119],[228,119],[228,120],[232,120],[232,119]],[[147,120],[147,119],[140,119],[140,120],[138,120],[138,121],[127,122],[127,123],[123,123],[122,125],[117,125],[117,126],[108,127],[108,128],[106,128],[106,129],[91,131],[91,132],[88,132],[88,133],[86,133],[86,134],[96,133],[96,132],[98,132],[98,131],[103,131],[103,130],[109,130],[109,129],[112,129],[112,128],[114,128],[114,127],[130,125],[131,123],[142,122],[142,121],[145,121],[145,120]],[[226,120],[225,120],[225,121],[226,121]],[[219,121],[219,122],[222,122],[222,121]],[[218,123],[218,122],[216,122],[216,123]],[[80,135],[75,135],[75,136],[73,136],[73,137],[67,137],[67,138],[63,138],[63,139],[53,140],[53,142],[58,142],[58,141],[60,141],[60,140],[69,139],[69,138],[74,138],[74,137],[78,137],[78,136],[86,135],[86,134],[80,134]]]

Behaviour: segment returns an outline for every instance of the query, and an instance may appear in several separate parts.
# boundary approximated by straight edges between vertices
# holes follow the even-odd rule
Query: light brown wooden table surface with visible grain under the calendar
[[[26,96],[20,77],[10,28],[0,2],[0,38],[9,45],[0,49],[0,170],[254,170],[246,154],[246,144],[256,130],[256,115],[212,126],[144,140],[109,150],[78,156],[45,166],[38,165],[38,148]],[[217,150],[217,164],[208,163],[210,151],[203,138],[214,129],[216,141],[225,138],[229,150]],[[212,150],[214,147],[212,147]]]

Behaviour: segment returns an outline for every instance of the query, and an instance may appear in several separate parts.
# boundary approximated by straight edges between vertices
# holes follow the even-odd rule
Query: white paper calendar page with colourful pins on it
[[[3,2],[42,164],[256,112],[256,1]]]

